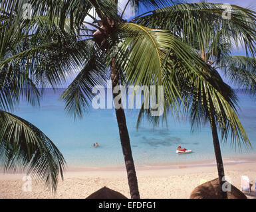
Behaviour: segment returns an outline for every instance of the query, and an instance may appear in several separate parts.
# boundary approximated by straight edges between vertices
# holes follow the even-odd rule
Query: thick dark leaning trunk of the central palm
[[[112,60],[112,64],[110,66],[110,74],[112,79],[112,91],[116,85],[119,83],[118,72],[116,66],[114,64],[114,59]],[[118,93],[113,93],[113,99],[118,95]],[[121,103],[121,100],[120,100]],[[115,105],[116,106],[116,105]],[[130,138],[128,134],[128,129],[126,126],[126,117],[124,114],[123,107],[116,109],[116,120],[118,123],[120,141],[122,146],[122,152],[124,154],[124,162],[126,166],[126,172],[128,177],[128,184],[130,187],[130,195],[132,199],[140,199],[140,193],[138,189],[138,181],[134,166],[134,160],[132,158],[132,148],[130,146]]]

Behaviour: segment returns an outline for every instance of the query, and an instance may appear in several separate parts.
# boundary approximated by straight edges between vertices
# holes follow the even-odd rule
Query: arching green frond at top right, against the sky
[[[199,50],[209,48],[209,43],[214,44],[212,41],[221,30],[221,39],[225,42],[237,48],[241,43],[247,54],[255,55],[255,11],[230,5],[231,19],[223,18],[225,11],[227,5],[221,3],[185,3],[156,9],[135,20],[150,28],[170,29],[192,46],[196,36]]]

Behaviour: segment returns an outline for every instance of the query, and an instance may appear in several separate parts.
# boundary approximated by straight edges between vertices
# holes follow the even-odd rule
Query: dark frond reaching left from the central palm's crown
[[[83,64],[88,56],[88,40],[61,34],[55,40],[51,37],[37,39],[38,36],[24,37],[15,48],[7,50],[0,60],[0,68],[3,70],[15,64],[31,77],[37,87],[55,87],[63,83],[66,76]]]

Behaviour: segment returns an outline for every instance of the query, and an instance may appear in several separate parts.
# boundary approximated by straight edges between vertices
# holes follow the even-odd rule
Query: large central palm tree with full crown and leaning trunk
[[[25,3],[12,2],[15,2],[11,4],[16,5],[15,8],[21,8]],[[19,24],[17,21],[12,23],[16,27],[15,32],[18,32],[12,38],[23,45],[17,48],[19,51],[16,54],[3,60],[1,66],[14,62],[20,66],[23,64],[26,76],[31,76],[36,85],[55,85],[63,81],[74,68],[79,68],[80,72],[62,95],[66,111],[74,119],[81,118],[83,112],[87,111],[93,97],[92,87],[104,85],[110,76],[113,88],[120,83],[164,86],[163,121],[167,119],[168,112],[176,117],[182,105],[190,109],[191,103],[201,99],[195,104],[197,107],[192,107],[196,109],[192,111],[199,111],[195,115],[201,118],[205,116],[205,119],[209,115],[214,116],[223,135],[231,130],[234,139],[241,136],[247,142],[245,131],[235,113],[237,99],[231,87],[197,55],[193,45],[186,44],[182,33],[174,33],[170,28],[164,29],[158,25],[146,27],[148,23],[161,23],[158,15],[152,19],[151,13],[142,14],[126,21],[122,18],[124,11],[118,8],[118,1],[112,0],[71,3],[31,0],[26,3],[31,3],[33,8],[31,20],[18,19]],[[158,11],[161,11],[160,7],[168,5],[168,1],[154,0],[130,0],[126,6],[128,3],[134,11],[140,11],[141,5],[148,9],[159,8]],[[13,14],[13,10],[9,9],[8,13]],[[90,13],[92,10],[96,15]],[[21,17],[20,11],[16,10],[16,13],[17,17]],[[92,21],[85,21],[86,17]],[[139,23],[147,18],[150,21]],[[122,103],[118,93],[113,92],[113,98],[119,100],[114,101],[115,104]],[[209,107],[209,102],[213,106]],[[124,109],[120,107],[115,110],[130,194],[132,198],[139,198]],[[152,109],[142,107],[139,120],[146,113],[151,121],[159,123],[160,117],[152,117],[151,112]]]

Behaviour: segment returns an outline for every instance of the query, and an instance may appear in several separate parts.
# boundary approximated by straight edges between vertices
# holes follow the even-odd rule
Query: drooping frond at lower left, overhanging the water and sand
[[[21,170],[42,180],[51,191],[63,179],[65,160],[57,146],[28,121],[0,111],[0,158],[4,170]]]

